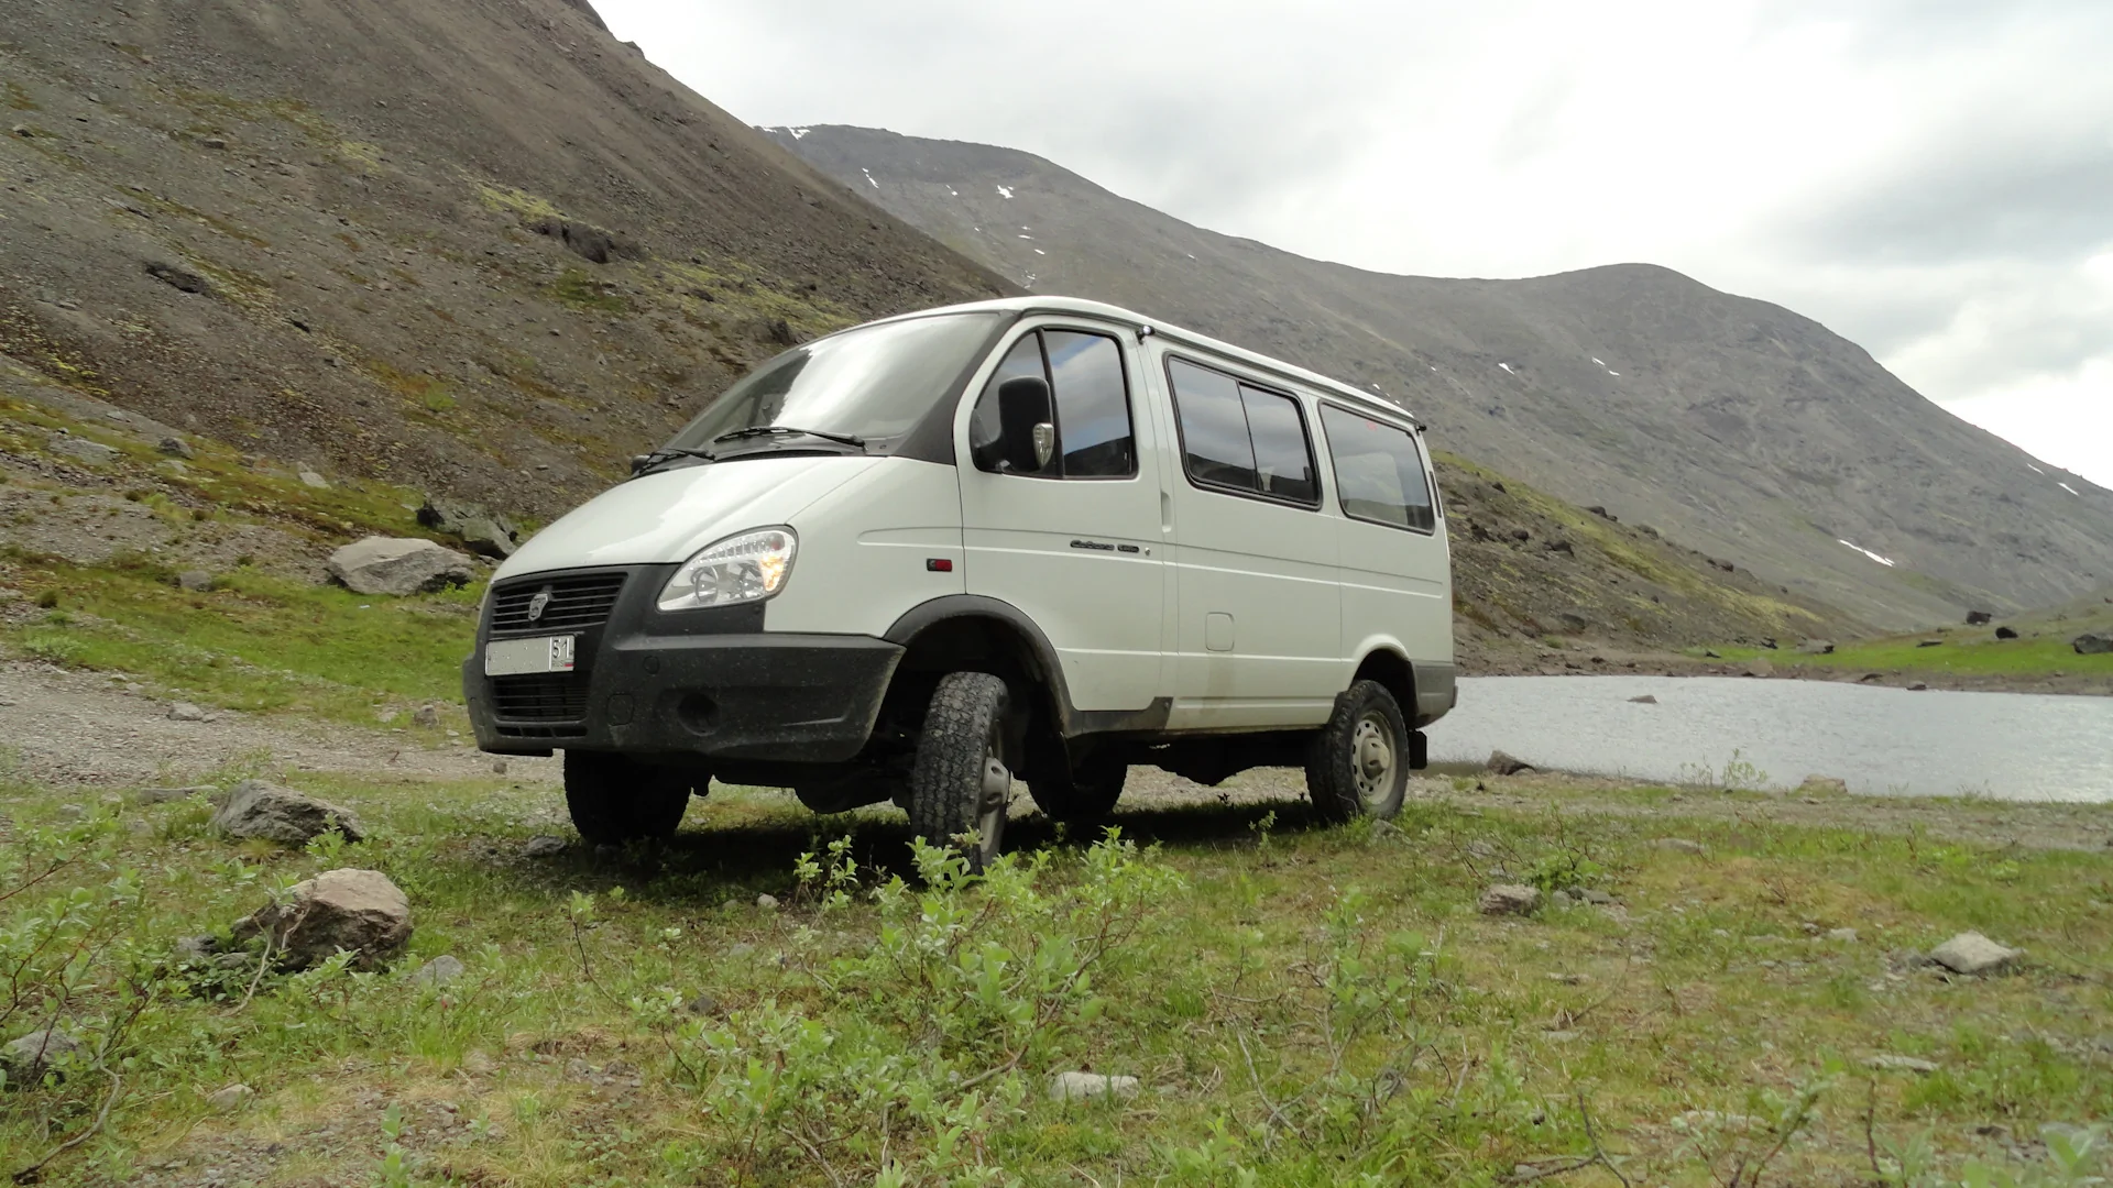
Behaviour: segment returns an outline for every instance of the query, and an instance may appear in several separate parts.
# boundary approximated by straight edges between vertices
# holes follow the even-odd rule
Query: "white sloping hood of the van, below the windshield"
[[[790,522],[816,499],[883,461],[799,454],[634,478],[530,537],[492,581],[549,569],[682,562],[721,537]]]

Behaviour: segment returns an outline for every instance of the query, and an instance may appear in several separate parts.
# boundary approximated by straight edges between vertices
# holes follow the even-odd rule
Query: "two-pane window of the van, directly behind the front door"
[[[1188,476],[1204,486],[1321,503],[1299,402],[1188,359],[1166,359]]]

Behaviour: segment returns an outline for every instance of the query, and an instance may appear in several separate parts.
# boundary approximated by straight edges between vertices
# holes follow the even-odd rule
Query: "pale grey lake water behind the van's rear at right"
[[[1650,693],[1654,706],[1629,698]],[[2113,801],[2113,698],[1910,693],[1726,676],[1473,676],[1428,729],[1433,763],[1507,750],[1638,780]]]

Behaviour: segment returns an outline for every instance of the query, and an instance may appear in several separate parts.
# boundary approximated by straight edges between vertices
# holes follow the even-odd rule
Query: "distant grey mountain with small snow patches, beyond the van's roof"
[[[765,131],[1029,290],[1371,383],[1445,448],[1872,621],[2047,605],[2113,575],[2113,493],[1769,302],[1644,264],[1526,281],[1365,273],[1183,224],[1025,152]]]

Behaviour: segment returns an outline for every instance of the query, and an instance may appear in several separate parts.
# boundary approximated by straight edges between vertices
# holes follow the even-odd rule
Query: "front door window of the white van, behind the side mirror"
[[[1042,376],[1056,414],[1056,457],[1040,478],[1130,478],[1137,433],[1122,347],[1107,334],[1033,330],[1006,351],[968,421],[976,469],[997,471],[997,389],[1010,378]]]

